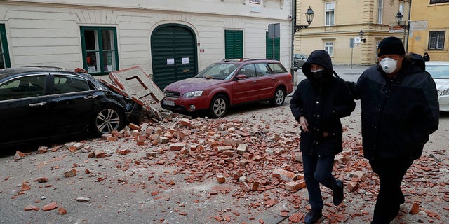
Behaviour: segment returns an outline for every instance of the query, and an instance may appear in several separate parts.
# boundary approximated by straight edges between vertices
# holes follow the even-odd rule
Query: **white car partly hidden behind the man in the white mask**
[[[435,80],[440,111],[449,112],[449,62],[427,61],[426,71]]]

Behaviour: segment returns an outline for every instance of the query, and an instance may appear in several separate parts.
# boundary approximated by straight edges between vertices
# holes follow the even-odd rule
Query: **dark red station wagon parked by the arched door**
[[[274,59],[225,59],[193,78],[167,85],[163,109],[185,114],[225,116],[229,107],[269,101],[281,106],[293,91],[293,78]]]

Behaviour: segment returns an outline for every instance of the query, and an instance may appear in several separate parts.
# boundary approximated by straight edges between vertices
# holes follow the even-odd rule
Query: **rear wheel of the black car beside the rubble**
[[[93,118],[93,134],[109,134],[112,130],[121,130],[125,125],[125,115],[114,106],[106,106],[100,109]]]

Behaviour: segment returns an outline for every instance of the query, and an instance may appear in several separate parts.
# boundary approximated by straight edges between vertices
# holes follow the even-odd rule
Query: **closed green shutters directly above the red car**
[[[225,59],[243,58],[243,31],[225,30]]]

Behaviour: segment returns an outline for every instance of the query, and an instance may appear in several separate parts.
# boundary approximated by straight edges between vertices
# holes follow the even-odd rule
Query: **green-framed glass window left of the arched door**
[[[83,66],[88,73],[105,75],[119,70],[115,27],[81,27]]]

